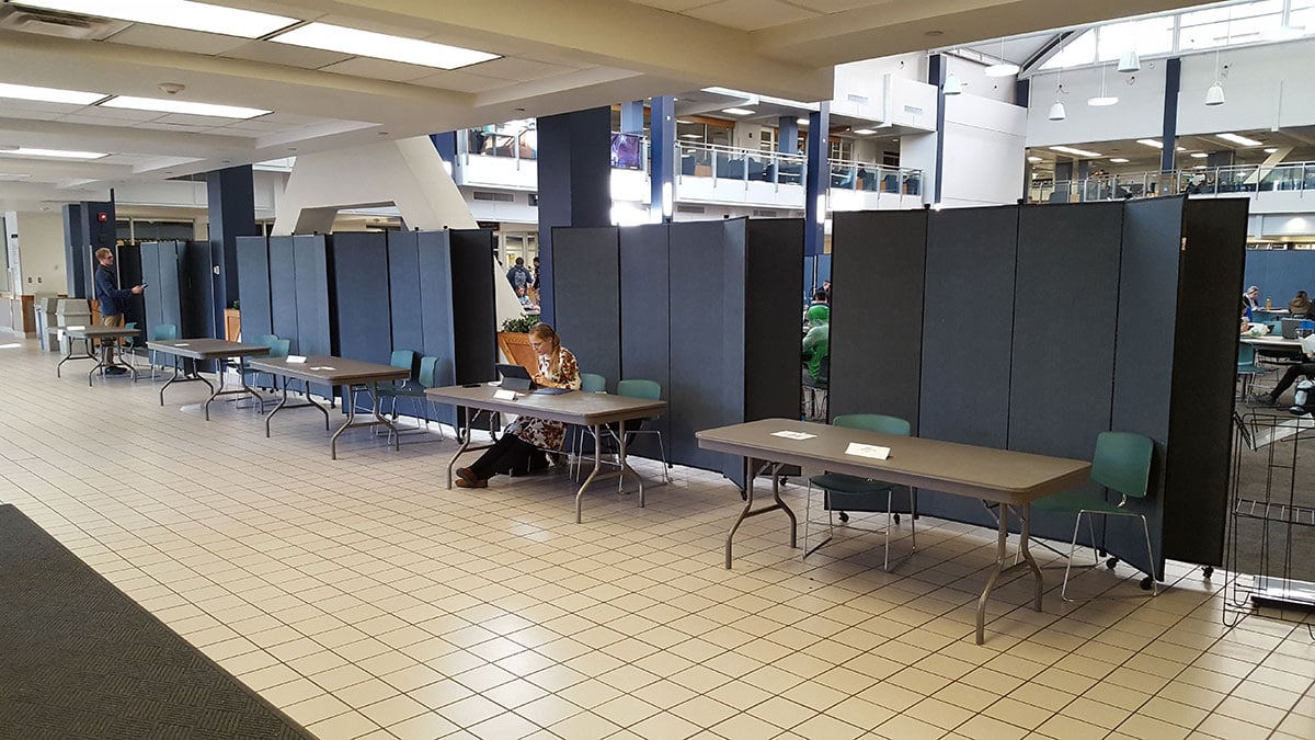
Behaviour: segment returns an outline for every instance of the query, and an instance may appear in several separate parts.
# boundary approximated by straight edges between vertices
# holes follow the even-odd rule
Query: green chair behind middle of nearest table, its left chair
[[[899,419],[898,416],[886,416],[884,413],[844,413],[836,416],[831,420],[832,427],[844,427],[847,429],[863,429],[867,432],[880,432],[882,435],[898,435],[902,437],[910,436],[913,427],[907,420]],[[813,487],[817,486],[823,492],[823,504],[827,512],[827,537],[818,542],[817,548],[809,549],[809,529],[811,524],[819,524],[821,521],[813,521]],[[894,512],[894,490],[897,483],[886,483],[885,481],[874,481],[872,478],[859,478],[857,475],[847,475],[844,473],[823,473],[822,475],[813,475],[809,478],[807,498],[805,499],[803,510],[803,557],[809,557],[814,550],[819,549],[822,545],[831,541],[835,535],[835,512],[840,512],[840,520],[848,521],[848,516],[844,514],[844,504],[856,504],[863,499],[885,495],[886,496],[886,527],[885,527],[885,556],[882,558],[882,569],[890,570],[890,529],[896,523],[899,521],[898,515]],[[917,499],[914,498],[913,489],[909,489],[909,529],[913,549],[909,554],[913,554],[918,549],[918,523],[917,523]],[[907,556],[905,556],[907,557]]]

